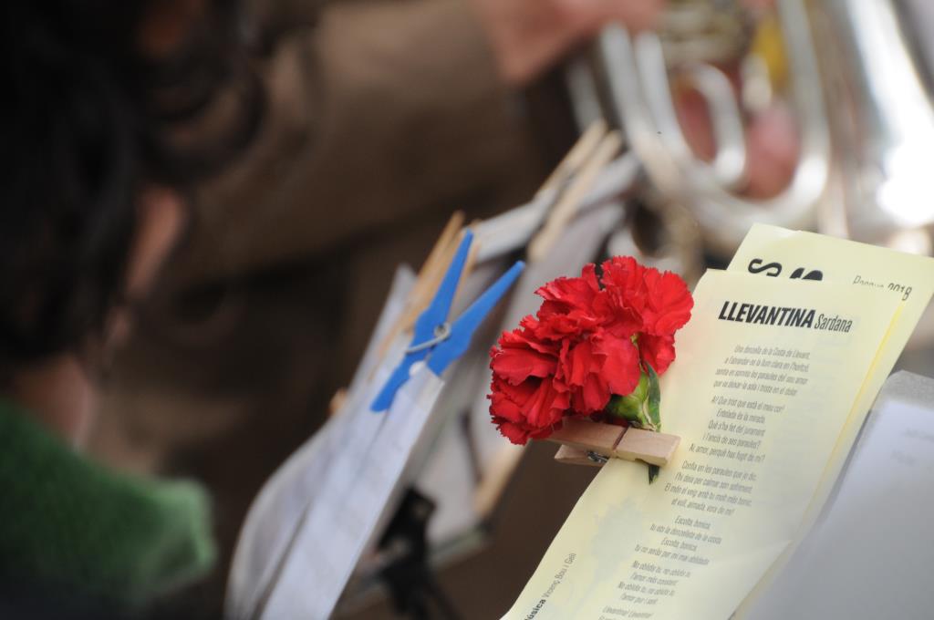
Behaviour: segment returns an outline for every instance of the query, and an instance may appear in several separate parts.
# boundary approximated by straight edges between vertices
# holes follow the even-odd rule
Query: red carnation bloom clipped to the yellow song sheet
[[[514,444],[547,437],[566,416],[602,412],[636,388],[644,364],[661,374],[674,359],[674,331],[694,303],[684,280],[630,257],[601,267],[599,281],[588,264],[538,289],[535,317],[490,350],[490,415]]]

